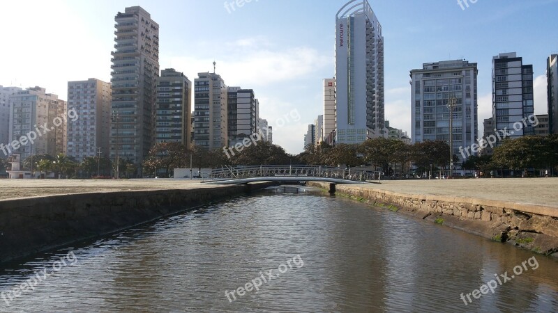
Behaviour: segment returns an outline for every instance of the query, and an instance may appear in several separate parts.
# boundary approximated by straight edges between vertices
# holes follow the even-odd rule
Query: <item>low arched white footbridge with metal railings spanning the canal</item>
[[[247,184],[250,182],[329,182],[333,184],[379,183],[382,172],[329,166],[248,166],[209,172],[205,184]]]

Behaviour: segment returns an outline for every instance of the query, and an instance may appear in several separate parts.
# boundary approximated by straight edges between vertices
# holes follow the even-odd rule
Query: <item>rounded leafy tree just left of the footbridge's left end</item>
[[[171,169],[183,166],[187,154],[186,146],[181,143],[156,143],[149,150],[143,166],[148,172],[164,168],[165,176],[169,177]]]

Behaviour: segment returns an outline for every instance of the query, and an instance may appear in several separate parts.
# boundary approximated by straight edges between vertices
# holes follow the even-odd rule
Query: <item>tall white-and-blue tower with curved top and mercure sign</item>
[[[384,132],[384,37],[367,0],[337,13],[335,29],[337,143],[361,143]]]

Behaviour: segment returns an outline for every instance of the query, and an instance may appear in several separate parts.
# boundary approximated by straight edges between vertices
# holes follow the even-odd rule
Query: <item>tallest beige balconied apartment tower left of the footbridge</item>
[[[142,163],[155,143],[159,25],[140,6],[114,17],[110,158]]]

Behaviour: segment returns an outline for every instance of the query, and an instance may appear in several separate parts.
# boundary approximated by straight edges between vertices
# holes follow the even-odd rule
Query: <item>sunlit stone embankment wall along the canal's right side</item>
[[[329,190],[329,184],[309,185]],[[450,195],[414,195],[380,188],[337,185],[336,192],[377,207],[558,257],[558,207]]]

